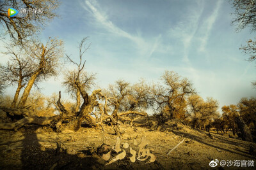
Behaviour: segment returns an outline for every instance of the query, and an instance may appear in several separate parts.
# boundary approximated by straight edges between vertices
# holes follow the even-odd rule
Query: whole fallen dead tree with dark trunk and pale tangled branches
[[[92,94],[89,96],[86,91],[83,89],[81,82],[79,80],[75,81],[81,96],[83,97],[83,104],[79,111],[68,111],[63,104],[61,104],[61,92],[59,92],[59,98],[56,102],[60,115],[54,115],[53,117],[38,117],[32,110],[29,110],[28,107],[24,108],[0,108],[6,115],[12,117],[19,116],[17,122],[12,122],[9,124],[0,124],[0,129],[3,130],[14,130],[17,131],[20,127],[27,124],[35,124],[40,126],[50,126],[56,131],[62,131],[63,129],[69,129],[73,131],[78,131],[81,127],[82,122],[90,127],[97,127],[101,125],[102,130],[104,131],[104,124],[111,125],[115,130],[115,134],[118,136],[122,135],[122,132],[118,128],[118,125],[122,124],[122,117],[127,117],[128,115],[137,115],[139,117],[147,116],[147,113],[144,111],[135,111],[128,110],[121,113],[118,113],[120,107],[120,101],[115,107],[115,110],[112,114],[108,114],[108,100],[113,97],[107,97],[102,94],[100,89],[93,90]],[[99,102],[99,99],[104,99],[104,106]],[[114,99],[114,98],[113,98]],[[101,111],[99,120],[95,119],[90,115],[93,113],[94,108],[99,108]],[[120,119],[119,119],[120,118]],[[131,125],[133,120],[131,119]],[[104,123],[104,124],[103,124]]]

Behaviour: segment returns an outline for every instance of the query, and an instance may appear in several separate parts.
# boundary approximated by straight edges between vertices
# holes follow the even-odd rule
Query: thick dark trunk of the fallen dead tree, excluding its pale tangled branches
[[[81,87],[80,87],[81,88]],[[26,124],[36,124],[36,125],[51,125],[56,127],[58,124],[58,129],[61,127],[61,122],[68,122],[67,128],[77,131],[81,127],[81,122],[85,119],[90,126],[96,126],[95,118],[93,118],[89,113],[92,113],[93,108],[98,105],[97,95],[100,94],[101,90],[94,90],[91,96],[88,96],[86,92],[81,88],[81,94],[84,99],[84,103],[78,113],[69,113],[63,104],[61,104],[61,92],[59,92],[59,99],[57,102],[58,108],[60,109],[60,115],[54,117],[37,117],[32,111],[26,108],[1,108],[6,113],[14,115],[22,115],[24,118],[18,120],[17,122],[11,124],[0,124],[0,129],[5,130],[15,130],[19,129]]]

